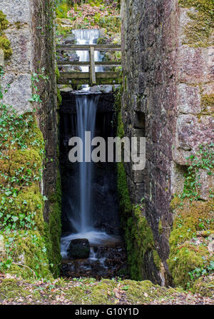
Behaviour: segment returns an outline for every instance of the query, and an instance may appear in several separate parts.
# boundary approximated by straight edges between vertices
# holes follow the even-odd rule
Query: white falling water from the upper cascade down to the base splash
[[[73,30],[75,35],[76,44],[96,44],[100,37],[100,31],[98,29],[77,29]],[[88,51],[76,51],[79,56],[79,61],[89,61]],[[101,61],[103,56],[99,51],[94,52],[95,61]],[[81,71],[88,72],[88,66],[82,66]],[[103,71],[101,66],[96,66],[96,71]],[[82,91],[89,91],[89,86],[84,85]],[[85,132],[91,132],[91,139],[94,136],[95,122],[96,122],[96,109],[98,105],[98,94],[89,94],[88,92],[82,92],[76,95],[76,126],[77,135],[81,137],[83,141],[83,163],[78,163],[78,203],[76,203],[76,211],[73,216],[68,216],[68,220],[76,233],[71,233],[68,236],[61,238],[61,255],[66,257],[66,250],[73,238],[88,238],[91,245],[103,244],[105,242],[116,242],[118,238],[112,235],[108,235],[106,232],[98,231],[94,227],[96,221],[93,221],[91,210],[91,188],[93,178],[93,162],[84,162],[84,143]],[[91,148],[91,143],[90,143]]]

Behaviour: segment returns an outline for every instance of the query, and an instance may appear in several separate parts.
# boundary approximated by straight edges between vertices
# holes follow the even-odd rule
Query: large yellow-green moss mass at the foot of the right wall
[[[205,268],[210,262],[208,248],[203,245],[194,245],[193,238],[197,231],[212,231],[213,203],[212,201],[185,200],[179,206],[179,199],[175,197],[171,203],[175,213],[173,231],[170,233],[170,255],[168,266],[176,285],[186,288],[193,285],[189,273],[195,268]]]

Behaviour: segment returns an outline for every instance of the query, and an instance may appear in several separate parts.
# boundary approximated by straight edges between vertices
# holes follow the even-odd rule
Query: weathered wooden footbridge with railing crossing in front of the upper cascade
[[[121,66],[121,61],[94,61],[94,51],[121,51],[118,44],[71,44],[58,46],[57,51],[89,51],[89,61],[64,61],[58,62],[58,67],[63,66],[89,66],[89,72],[60,71],[58,84],[117,84],[119,72],[96,72],[96,66]]]

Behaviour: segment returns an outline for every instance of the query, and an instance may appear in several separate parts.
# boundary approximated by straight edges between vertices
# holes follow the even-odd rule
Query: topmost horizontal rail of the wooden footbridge
[[[118,44],[64,44],[57,46],[56,51],[89,51],[93,47],[94,51],[121,51]]]

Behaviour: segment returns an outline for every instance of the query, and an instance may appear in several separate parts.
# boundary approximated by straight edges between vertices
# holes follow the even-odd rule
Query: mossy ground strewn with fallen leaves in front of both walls
[[[100,281],[93,278],[70,280],[23,280],[1,276],[0,303],[4,304],[72,304],[72,305],[140,305],[198,303],[198,296],[178,288],[153,285],[150,281]],[[200,298],[200,302],[203,298]],[[203,300],[212,303],[211,299]]]

